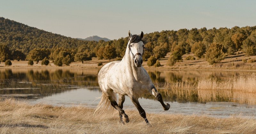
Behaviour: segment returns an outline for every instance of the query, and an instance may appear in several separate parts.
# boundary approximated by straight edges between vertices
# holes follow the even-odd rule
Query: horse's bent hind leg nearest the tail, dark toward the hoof
[[[112,94],[113,90],[107,91],[108,100],[110,101],[111,106],[113,106],[119,111],[119,115],[121,114],[122,116],[124,116],[126,123],[130,122],[128,115],[125,114],[124,110],[118,106],[116,100],[112,97]]]

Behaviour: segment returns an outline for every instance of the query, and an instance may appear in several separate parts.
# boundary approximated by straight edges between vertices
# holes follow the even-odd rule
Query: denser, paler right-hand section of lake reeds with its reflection
[[[256,105],[256,75],[238,75],[228,80],[200,79],[197,84],[199,101],[223,99],[239,104]]]

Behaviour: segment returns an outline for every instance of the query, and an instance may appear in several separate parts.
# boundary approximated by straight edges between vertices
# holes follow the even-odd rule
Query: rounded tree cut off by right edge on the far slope
[[[250,38],[243,41],[242,48],[246,55],[256,55],[256,44]]]

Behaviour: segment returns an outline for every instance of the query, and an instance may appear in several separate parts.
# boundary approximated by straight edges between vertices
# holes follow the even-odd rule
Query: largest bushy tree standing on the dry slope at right
[[[222,51],[223,46],[217,43],[212,43],[210,48],[205,54],[205,59],[208,61],[211,65],[214,63],[220,62],[222,59],[225,59],[225,54]]]

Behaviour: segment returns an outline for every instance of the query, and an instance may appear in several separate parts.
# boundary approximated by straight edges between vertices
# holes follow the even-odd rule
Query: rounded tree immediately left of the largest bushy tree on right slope
[[[191,51],[195,54],[196,57],[202,58],[205,53],[205,49],[206,48],[204,43],[200,41],[200,42],[194,43],[194,45],[191,48]]]

